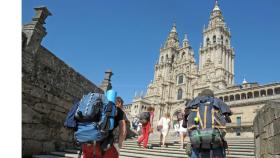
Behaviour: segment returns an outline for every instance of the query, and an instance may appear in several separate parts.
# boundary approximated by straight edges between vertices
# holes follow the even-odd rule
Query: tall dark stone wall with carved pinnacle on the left
[[[73,131],[63,123],[73,101],[89,91],[103,93],[41,45],[46,35],[42,24],[49,12],[46,7],[35,10],[22,37],[23,157],[72,147]]]

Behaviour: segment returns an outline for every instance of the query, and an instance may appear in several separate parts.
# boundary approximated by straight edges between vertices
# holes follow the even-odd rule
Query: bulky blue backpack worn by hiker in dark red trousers
[[[88,93],[79,102],[75,113],[77,131],[75,139],[79,143],[101,141],[114,128],[116,105],[104,94]]]

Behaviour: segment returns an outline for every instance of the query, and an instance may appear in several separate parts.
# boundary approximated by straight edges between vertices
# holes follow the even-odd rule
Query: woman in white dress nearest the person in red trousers
[[[158,122],[158,127],[160,127],[160,142],[161,146],[165,147],[165,138],[170,129],[170,114],[166,113],[163,117],[160,118]]]

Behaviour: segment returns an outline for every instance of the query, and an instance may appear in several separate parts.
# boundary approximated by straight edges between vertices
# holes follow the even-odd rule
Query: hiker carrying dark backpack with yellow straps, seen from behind
[[[191,158],[226,158],[226,123],[232,112],[227,104],[215,98],[212,90],[203,90],[186,105]]]

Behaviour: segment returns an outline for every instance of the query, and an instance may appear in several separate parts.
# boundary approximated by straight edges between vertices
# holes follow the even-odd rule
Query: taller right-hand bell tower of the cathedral
[[[234,50],[231,34],[216,0],[209,24],[203,29],[203,44],[199,50],[199,72],[202,83],[212,89],[224,89],[234,84]]]

